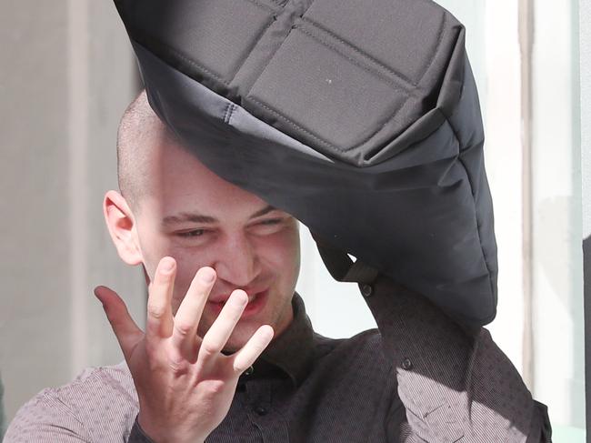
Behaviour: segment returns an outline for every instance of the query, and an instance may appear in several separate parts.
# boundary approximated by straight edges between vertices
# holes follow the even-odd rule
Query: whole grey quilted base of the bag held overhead
[[[119,1],[140,44],[356,166],[396,154],[389,144],[436,107],[441,73],[463,45],[462,26],[427,0],[170,1]]]

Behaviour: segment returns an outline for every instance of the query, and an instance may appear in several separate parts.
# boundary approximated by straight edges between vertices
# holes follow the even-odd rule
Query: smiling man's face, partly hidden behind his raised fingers
[[[195,272],[213,267],[215,286],[198,333],[211,327],[233,290],[249,302],[226,348],[244,346],[261,325],[275,336],[292,320],[291,299],[299,272],[299,234],[294,217],[215,176],[195,156],[168,143],[155,150],[150,192],[135,210],[135,227],[150,280],[162,257],[174,257],[173,312]]]

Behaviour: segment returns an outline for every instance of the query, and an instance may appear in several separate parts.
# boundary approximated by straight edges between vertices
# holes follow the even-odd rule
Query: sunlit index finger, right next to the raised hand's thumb
[[[154,280],[148,289],[145,337],[149,341],[170,337],[173,333],[171,300],[175,285],[176,262],[173,257],[164,257],[158,263]]]

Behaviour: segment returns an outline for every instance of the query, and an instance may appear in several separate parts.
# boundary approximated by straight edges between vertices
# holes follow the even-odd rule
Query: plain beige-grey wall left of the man
[[[0,372],[7,418],[41,388],[121,359],[92,289],[144,284],[107,237],[115,129],[136,89],[112,2],[5,0],[0,15]]]

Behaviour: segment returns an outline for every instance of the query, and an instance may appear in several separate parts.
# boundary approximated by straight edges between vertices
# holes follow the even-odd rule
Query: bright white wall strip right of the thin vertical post
[[[534,392],[556,426],[584,428],[578,8],[535,7]]]

